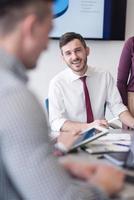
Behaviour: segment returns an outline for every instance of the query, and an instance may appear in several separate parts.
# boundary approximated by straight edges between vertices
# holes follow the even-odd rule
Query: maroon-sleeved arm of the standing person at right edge
[[[128,39],[123,47],[119,61],[118,75],[117,75],[117,87],[119,89],[123,103],[125,105],[127,105],[127,82],[132,65],[131,46],[132,46],[132,38]]]

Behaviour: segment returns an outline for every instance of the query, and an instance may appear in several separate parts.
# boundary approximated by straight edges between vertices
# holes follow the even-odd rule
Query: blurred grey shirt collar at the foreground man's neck
[[[28,81],[25,66],[14,56],[0,49],[0,69],[12,71],[24,83]]]

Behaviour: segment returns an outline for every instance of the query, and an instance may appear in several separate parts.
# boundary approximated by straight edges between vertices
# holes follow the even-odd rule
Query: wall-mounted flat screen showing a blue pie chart
[[[127,0],[57,0],[50,38],[65,32],[85,39],[124,40]]]

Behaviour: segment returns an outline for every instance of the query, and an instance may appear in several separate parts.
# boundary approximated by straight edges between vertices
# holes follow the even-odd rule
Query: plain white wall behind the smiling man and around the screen
[[[128,0],[126,18],[126,39],[134,35],[134,0]],[[87,41],[91,49],[88,58],[89,65],[108,70],[116,79],[117,66],[124,41]],[[60,57],[58,40],[51,40],[49,49],[43,53],[38,61],[38,67],[29,73],[30,88],[41,101],[48,94],[51,78],[65,68]]]

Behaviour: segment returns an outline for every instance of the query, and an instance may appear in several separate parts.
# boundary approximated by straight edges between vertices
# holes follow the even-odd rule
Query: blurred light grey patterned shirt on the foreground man
[[[26,86],[25,67],[0,50],[0,200],[104,200],[72,179],[52,156],[41,105]]]

